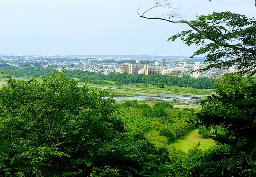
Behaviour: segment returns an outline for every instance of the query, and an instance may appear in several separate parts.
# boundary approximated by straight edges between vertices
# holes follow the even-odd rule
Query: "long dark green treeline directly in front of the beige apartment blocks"
[[[219,81],[219,79],[213,79],[208,77],[202,77],[199,79],[194,79],[190,76],[184,75],[184,77],[176,76],[163,76],[161,74],[156,75],[131,75],[127,73],[109,73],[108,75],[103,75],[101,73],[90,73],[82,71],[67,71],[67,75],[71,77],[80,78],[81,82],[86,81],[87,83],[95,84],[108,84],[104,80],[116,81],[117,85],[129,85],[136,83],[154,84],[158,85],[161,83],[164,86],[178,85],[180,87],[191,87],[195,89],[214,89],[214,84]]]

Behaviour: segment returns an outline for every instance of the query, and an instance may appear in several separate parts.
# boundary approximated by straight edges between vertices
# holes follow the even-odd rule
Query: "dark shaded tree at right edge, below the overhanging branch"
[[[206,154],[207,161],[192,169],[197,176],[254,176],[256,172],[256,81],[226,76],[216,86],[217,96],[201,101],[195,125],[220,127],[211,138],[225,149]]]

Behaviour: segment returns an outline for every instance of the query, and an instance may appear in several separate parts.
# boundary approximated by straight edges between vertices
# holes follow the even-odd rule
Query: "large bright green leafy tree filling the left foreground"
[[[77,87],[64,71],[7,84],[0,89],[1,176],[132,177],[160,171],[169,159],[112,116],[111,90]]]

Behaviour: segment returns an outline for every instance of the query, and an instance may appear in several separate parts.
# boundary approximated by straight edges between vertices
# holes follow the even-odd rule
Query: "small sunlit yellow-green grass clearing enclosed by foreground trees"
[[[211,138],[202,138],[202,136],[198,135],[198,129],[195,129],[187,133],[186,136],[175,140],[172,144],[170,144],[170,146],[174,146],[176,149],[188,152],[189,149],[197,147],[197,144],[199,142],[200,145],[198,146],[198,148],[203,150],[208,149],[214,144]]]

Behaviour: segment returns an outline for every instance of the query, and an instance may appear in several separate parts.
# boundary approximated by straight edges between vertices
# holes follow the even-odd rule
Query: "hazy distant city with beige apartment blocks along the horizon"
[[[223,58],[223,60],[228,60]],[[224,74],[235,74],[238,72],[234,65],[228,69],[210,69],[207,72],[196,72],[207,64],[202,63],[203,57],[189,59],[182,56],[150,56],[150,55],[67,55],[67,56],[39,56],[39,55],[0,55],[1,68],[13,67],[35,67],[56,68],[58,71],[82,70],[107,75],[111,72],[128,74],[162,74],[165,76],[183,77],[183,74],[193,78],[213,77],[220,78]],[[3,65],[4,64],[4,65]],[[247,72],[245,75],[250,75]]]

